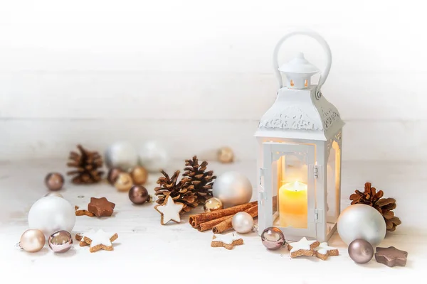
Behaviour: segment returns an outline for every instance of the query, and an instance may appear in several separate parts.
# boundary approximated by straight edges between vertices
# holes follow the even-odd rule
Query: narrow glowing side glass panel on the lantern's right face
[[[333,141],[330,155],[327,159],[327,223],[333,226],[337,223],[339,208],[339,170],[341,168],[339,145]]]

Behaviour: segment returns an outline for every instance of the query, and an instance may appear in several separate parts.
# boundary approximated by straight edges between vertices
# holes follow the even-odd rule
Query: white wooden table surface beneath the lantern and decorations
[[[119,239],[114,243],[114,251],[90,253],[77,242],[73,249],[63,254],[53,253],[47,245],[38,253],[21,251],[16,243],[28,229],[28,210],[48,192],[43,178],[49,171],[65,173],[64,164],[64,160],[0,163],[1,283],[22,279],[37,283],[58,279],[62,282],[56,283],[154,283],[155,280],[188,284],[243,283],[243,280],[248,283],[273,283],[273,280],[277,283],[399,283],[423,277],[421,273],[427,265],[427,178],[423,167],[421,164],[379,162],[344,163],[342,208],[349,204],[347,198],[352,191],[362,189],[366,181],[384,190],[386,197],[395,197],[398,202],[395,212],[403,224],[394,233],[387,234],[380,246],[396,246],[408,251],[404,268],[389,268],[374,259],[357,265],[349,258],[347,247],[337,234],[332,236],[330,245],[339,248],[339,256],[327,261],[290,259],[285,247],[267,251],[255,233],[243,235],[245,244],[231,251],[211,248],[211,231],[201,233],[191,228],[188,215],[184,215],[181,224],[162,226],[159,213],[153,209],[154,203],[133,205],[127,193],[117,192],[107,182],[91,186],[67,182],[60,193],[80,207],[88,204],[90,197],[107,197],[115,202],[112,217],[77,217],[72,232],[74,236],[81,231],[100,228],[117,233]],[[216,175],[226,170],[239,170],[255,183],[255,161],[231,165],[210,162],[209,167]],[[183,168],[182,161],[174,161],[167,170],[182,171]],[[146,187],[151,195],[158,176],[149,176]],[[201,208],[194,212],[201,212]],[[292,281],[288,281],[290,279]]]

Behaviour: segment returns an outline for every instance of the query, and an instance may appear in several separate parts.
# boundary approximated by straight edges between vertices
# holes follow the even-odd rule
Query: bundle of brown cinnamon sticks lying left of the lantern
[[[254,201],[227,209],[191,215],[189,217],[189,223],[193,228],[199,231],[212,229],[215,234],[219,234],[233,228],[231,221],[233,220],[234,214],[238,212],[247,212],[255,218],[258,216],[258,202]]]

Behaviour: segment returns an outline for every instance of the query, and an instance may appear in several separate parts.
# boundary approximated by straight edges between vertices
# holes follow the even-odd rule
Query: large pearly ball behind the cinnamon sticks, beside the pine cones
[[[226,172],[216,178],[212,194],[223,202],[224,207],[233,207],[251,200],[252,185],[245,175]]]

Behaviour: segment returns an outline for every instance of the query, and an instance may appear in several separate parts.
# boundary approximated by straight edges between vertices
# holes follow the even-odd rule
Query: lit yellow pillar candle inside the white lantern
[[[279,189],[280,226],[307,228],[307,185],[288,182]]]

